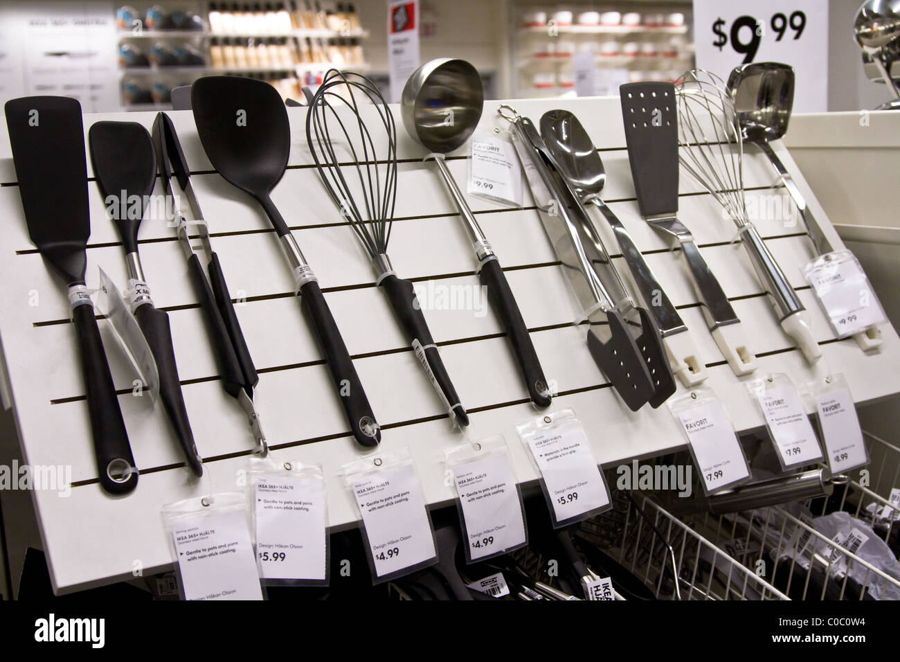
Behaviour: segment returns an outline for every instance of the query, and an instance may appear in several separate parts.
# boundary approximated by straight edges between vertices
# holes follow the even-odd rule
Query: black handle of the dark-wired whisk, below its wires
[[[435,341],[431,337],[431,332],[428,331],[428,322],[425,321],[425,315],[422,314],[419,307],[412,283],[396,276],[388,276],[382,279],[380,286],[383,287],[384,294],[388,296],[394,315],[400,322],[407,340],[413,343],[413,349],[416,350],[419,361],[425,358],[428,367],[426,372],[430,373],[428,377],[445,402],[446,408],[453,409],[456,419],[461,425],[468,424],[469,418],[460,404],[459,395],[456,394],[453,382],[450,381],[444,361],[441,360],[441,355],[434,346]],[[415,346],[417,341],[419,348]]]

